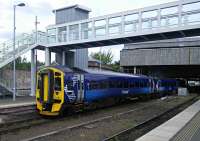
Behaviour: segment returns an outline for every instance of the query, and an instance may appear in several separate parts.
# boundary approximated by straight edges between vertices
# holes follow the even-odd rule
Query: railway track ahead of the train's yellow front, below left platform
[[[35,105],[1,108],[0,115],[3,119],[0,123],[0,135],[41,124],[44,119],[35,112]]]

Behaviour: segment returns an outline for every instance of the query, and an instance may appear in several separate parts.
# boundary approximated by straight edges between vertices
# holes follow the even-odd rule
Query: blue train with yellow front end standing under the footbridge
[[[37,72],[36,105],[41,115],[116,103],[126,98],[176,92],[175,79],[49,66]]]

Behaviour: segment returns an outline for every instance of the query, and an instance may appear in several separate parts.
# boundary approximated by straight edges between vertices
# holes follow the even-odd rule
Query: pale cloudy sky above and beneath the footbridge
[[[90,8],[92,10],[90,17],[97,17],[172,1],[175,0],[0,0],[0,43],[12,38],[13,5],[20,2],[25,3],[26,6],[16,9],[16,35],[34,30],[35,16],[38,17],[40,22],[38,29],[46,31],[48,25],[55,23],[52,10],[73,4]],[[120,59],[122,48],[123,45],[118,45],[102,47],[102,50],[111,50],[114,60],[117,61]],[[89,53],[99,50],[99,48],[92,48],[89,49]],[[30,60],[30,52],[25,56]],[[38,58],[40,61],[44,61],[44,53],[39,52]]]

